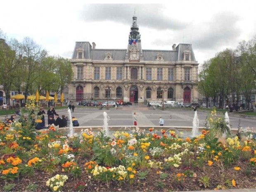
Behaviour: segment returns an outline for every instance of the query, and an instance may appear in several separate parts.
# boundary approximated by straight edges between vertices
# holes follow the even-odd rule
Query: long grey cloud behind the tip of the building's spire
[[[137,24],[159,30],[178,30],[185,28],[187,23],[166,17],[163,14],[162,4],[90,4],[84,5],[80,13],[83,21],[114,21],[132,25],[134,9]]]

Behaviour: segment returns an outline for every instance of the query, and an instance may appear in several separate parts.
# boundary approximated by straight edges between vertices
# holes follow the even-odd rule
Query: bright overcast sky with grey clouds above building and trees
[[[255,0],[141,2],[5,0],[0,29],[8,38],[32,38],[49,55],[71,58],[76,41],[95,42],[96,49],[126,49],[135,14],[142,49],[172,50],[173,44],[189,43],[199,64],[256,35]]]

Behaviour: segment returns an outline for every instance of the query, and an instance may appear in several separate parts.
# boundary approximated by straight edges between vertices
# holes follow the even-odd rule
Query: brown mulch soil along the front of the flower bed
[[[79,167],[84,167],[85,162],[89,159],[81,159],[79,161]],[[169,168],[168,170],[161,170],[161,172],[167,174],[165,178],[161,177],[161,174],[157,173],[159,169],[148,169],[151,172],[147,175],[147,178],[142,180],[138,178],[138,174],[140,171],[145,171],[144,169],[136,169],[137,178],[132,185],[129,183],[117,183],[111,182],[109,187],[105,183],[97,181],[93,178],[92,174],[83,173],[81,174],[81,178],[73,179],[69,173],[61,172],[61,168],[59,171],[49,174],[43,171],[35,171],[32,176],[20,176],[19,178],[13,181],[7,181],[0,179],[0,191],[3,191],[3,186],[14,183],[16,186],[12,189],[12,191],[28,191],[27,186],[29,184],[38,185],[36,191],[50,191],[50,189],[45,185],[46,181],[55,176],[56,174],[67,175],[69,179],[64,184],[62,191],[78,191],[76,189],[76,185],[78,183],[85,183],[87,186],[81,191],[198,191],[198,190],[213,190],[219,184],[226,185],[229,189],[242,189],[242,188],[256,188],[256,167],[248,165],[244,162],[237,163],[236,166],[239,166],[241,169],[239,171],[235,171],[234,166],[231,168],[222,168],[222,167],[209,167],[202,166],[202,168],[190,168],[185,166],[180,166],[179,168]],[[185,177],[185,180],[182,182],[175,182],[175,175],[177,173],[184,173],[184,171],[189,170],[193,171],[194,174],[191,176]],[[192,172],[192,173],[193,173]],[[199,179],[203,176],[208,176],[209,187],[205,188],[199,182]],[[228,183],[231,183],[231,180],[235,179],[236,187],[225,183],[226,180],[229,180]]]

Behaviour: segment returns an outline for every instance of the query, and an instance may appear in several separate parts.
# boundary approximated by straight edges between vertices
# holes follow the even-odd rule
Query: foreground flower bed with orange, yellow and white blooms
[[[51,126],[0,123],[0,188],[4,191],[194,191],[256,187],[255,131],[220,137],[211,113],[195,138],[135,128],[132,133],[83,130],[68,138]]]

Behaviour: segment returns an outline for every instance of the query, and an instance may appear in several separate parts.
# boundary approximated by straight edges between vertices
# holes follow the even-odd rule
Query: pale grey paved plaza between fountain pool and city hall
[[[109,126],[132,126],[132,115],[137,112],[137,125],[138,126],[159,126],[159,116],[164,119],[165,126],[193,126],[194,111],[186,109],[173,109],[173,110],[152,110],[144,106],[123,106],[123,109],[110,108],[107,110],[99,109],[86,109],[76,107],[72,116],[78,119],[80,126],[102,126],[103,125],[103,112],[106,111],[110,120]],[[61,117],[62,114],[67,115],[67,109],[59,109],[57,113]],[[204,127],[205,120],[209,112],[197,111],[199,118],[199,127]],[[171,116],[171,118],[170,118]],[[230,116],[230,126],[237,128],[239,125],[245,127],[256,127],[256,119],[247,119],[236,116]],[[47,116],[45,118],[47,121]],[[45,122],[46,123],[46,122]]]

